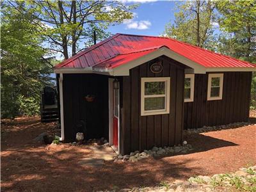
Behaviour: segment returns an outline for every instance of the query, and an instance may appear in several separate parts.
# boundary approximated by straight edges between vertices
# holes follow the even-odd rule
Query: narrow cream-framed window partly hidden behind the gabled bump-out
[[[184,81],[184,102],[192,102],[194,100],[194,84],[195,75],[186,74]]]

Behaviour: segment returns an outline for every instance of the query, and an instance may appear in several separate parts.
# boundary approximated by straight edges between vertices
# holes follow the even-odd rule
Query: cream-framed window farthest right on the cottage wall
[[[207,100],[221,100],[223,92],[223,74],[209,74]]]

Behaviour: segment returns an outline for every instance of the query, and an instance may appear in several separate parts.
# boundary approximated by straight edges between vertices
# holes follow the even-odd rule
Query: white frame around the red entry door
[[[113,146],[113,78],[108,79],[109,145],[120,154],[120,89],[118,89],[118,148]]]

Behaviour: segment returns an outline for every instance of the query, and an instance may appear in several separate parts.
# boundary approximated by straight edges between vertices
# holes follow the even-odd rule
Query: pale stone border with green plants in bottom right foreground
[[[256,189],[256,166],[240,168],[234,173],[216,174],[209,176],[198,175],[188,180],[175,180],[167,182],[162,180],[155,187],[112,189],[111,192],[140,192],[140,191],[172,191],[172,192],[197,192],[197,191],[255,191]],[[235,190],[234,190],[235,189]],[[100,191],[103,192],[103,191]],[[105,192],[110,192],[106,190]]]

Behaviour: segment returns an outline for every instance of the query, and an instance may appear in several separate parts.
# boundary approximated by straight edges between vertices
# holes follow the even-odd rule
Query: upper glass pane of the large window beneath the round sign
[[[145,95],[165,94],[165,82],[145,82]]]

